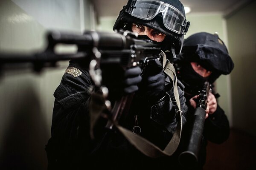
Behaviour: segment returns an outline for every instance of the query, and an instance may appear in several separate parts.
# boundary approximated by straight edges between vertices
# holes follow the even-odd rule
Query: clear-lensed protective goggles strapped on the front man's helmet
[[[125,11],[142,20],[151,20],[161,13],[164,26],[177,34],[185,35],[190,25],[190,22],[186,22],[182,12],[159,0],[132,0],[130,6],[126,6]]]

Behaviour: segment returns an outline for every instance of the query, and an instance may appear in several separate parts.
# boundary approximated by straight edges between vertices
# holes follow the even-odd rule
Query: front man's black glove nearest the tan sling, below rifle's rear
[[[158,59],[148,63],[143,70],[139,94],[149,102],[157,102],[165,96],[165,74]]]

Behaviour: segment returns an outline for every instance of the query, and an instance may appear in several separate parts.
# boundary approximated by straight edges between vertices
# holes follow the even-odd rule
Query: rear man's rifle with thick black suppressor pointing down
[[[192,127],[189,127],[188,144],[186,150],[180,153],[179,162],[183,167],[192,168],[198,163],[198,153],[201,148],[202,134],[204,130],[204,121],[207,109],[207,96],[211,91],[209,82],[205,82],[204,88],[199,91],[197,98],[197,107],[192,116]]]

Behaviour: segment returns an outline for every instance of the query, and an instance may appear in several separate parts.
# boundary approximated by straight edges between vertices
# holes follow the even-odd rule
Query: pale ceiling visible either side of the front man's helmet
[[[252,0],[180,0],[193,13],[221,13],[224,16],[241,8]],[[93,0],[98,17],[118,16],[128,0]]]

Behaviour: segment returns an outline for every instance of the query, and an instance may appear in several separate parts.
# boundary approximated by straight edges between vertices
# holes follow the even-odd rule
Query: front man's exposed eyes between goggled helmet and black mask
[[[140,24],[132,24],[131,26],[131,30],[135,33],[138,33],[138,35],[146,35],[148,36],[151,40],[157,41],[157,42],[161,42],[164,40],[164,38],[166,37],[165,34],[156,31],[152,28],[140,25]]]

